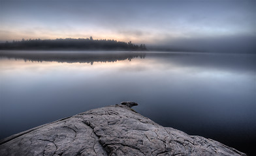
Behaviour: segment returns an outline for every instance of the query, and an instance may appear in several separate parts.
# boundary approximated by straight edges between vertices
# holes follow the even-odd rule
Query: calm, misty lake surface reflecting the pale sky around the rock
[[[120,101],[153,121],[250,153],[256,55],[0,52],[0,138]]]

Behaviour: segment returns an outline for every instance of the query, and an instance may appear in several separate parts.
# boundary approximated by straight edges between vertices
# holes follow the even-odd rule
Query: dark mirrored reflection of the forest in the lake
[[[145,53],[40,53],[40,52],[30,52],[24,53],[22,51],[18,52],[0,52],[0,57],[7,57],[8,59],[24,59],[25,61],[48,61],[48,62],[68,62],[68,63],[90,63],[93,62],[116,62],[118,60],[132,60],[134,58],[140,57],[144,59]]]

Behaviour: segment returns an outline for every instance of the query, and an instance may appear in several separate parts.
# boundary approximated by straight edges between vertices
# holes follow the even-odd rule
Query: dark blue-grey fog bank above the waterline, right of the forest
[[[217,36],[202,38],[165,38],[158,42],[159,47],[170,49],[192,49],[208,52],[255,53],[256,36]],[[152,44],[153,45],[153,44]]]

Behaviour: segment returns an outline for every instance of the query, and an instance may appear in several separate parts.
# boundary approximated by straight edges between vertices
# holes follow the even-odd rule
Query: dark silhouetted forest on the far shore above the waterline
[[[56,40],[24,40],[0,44],[5,50],[125,50],[146,51],[146,45],[136,45],[130,42],[116,40],[93,40],[90,38],[57,38]]]

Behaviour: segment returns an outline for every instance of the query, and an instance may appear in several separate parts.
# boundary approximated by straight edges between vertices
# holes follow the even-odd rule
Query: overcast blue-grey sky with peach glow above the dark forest
[[[225,43],[254,49],[255,10],[254,0],[0,0],[0,41],[93,36],[167,47]]]

